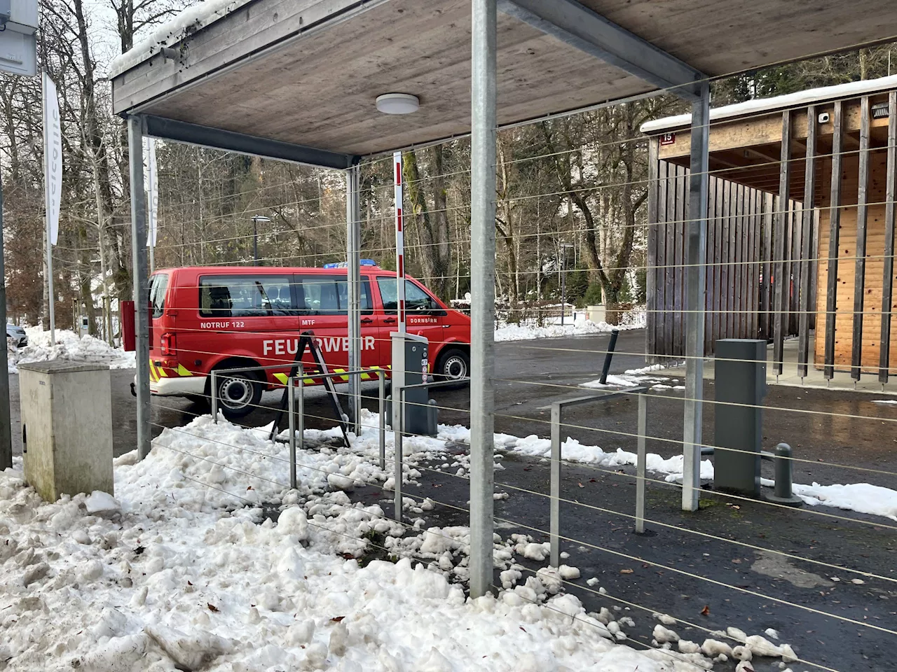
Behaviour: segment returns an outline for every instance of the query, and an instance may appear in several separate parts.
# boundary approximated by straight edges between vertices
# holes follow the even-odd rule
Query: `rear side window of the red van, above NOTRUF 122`
[[[286,275],[205,276],[199,279],[203,317],[255,317],[295,314],[291,280]]]

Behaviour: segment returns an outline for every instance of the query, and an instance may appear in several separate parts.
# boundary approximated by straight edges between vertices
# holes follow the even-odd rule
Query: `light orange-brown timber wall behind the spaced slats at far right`
[[[829,247],[831,241],[832,159],[819,162],[820,202],[819,273],[820,291],[816,300],[816,340],[814,364],[822,368],[825,361],[825,321]],[[856,151],[845,154],[841,167],[841,208],[838,241],[838,276],[835,310],[835,370],[849,371],[853,348],[854,289],[856,287],[857,255],[857,193],[859,158]],[[869,155],[869,183],[867,202],[866,272],[863,282],[863,348],[861,370],[877,373],[882,328],[882,289],[884,287],[884,187],[887,175],[887,155],[884,149]],[[893,278],[891,279],[893,281]],[[892,306],[897,309],[897,302]],[[891,366],[897,373],[897,327],[891,318]]]

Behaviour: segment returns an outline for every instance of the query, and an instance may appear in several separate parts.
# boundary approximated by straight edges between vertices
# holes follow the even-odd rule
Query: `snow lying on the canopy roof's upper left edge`
[[[119,74],[126,73],[136,65],[142,64],[158,54],[161,47],[177,44],[180,40],[195,33],[196,30],[223,19],[252,1],[204,0],[204,2],[187,7],[183,12],[158,26],[146,39],[142,39],[124,54],[113,58],[109,62],[109,79],[118,77]]]

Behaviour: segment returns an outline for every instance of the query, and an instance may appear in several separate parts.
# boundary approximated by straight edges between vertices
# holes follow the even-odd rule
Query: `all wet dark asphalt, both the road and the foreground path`
[[[643,332],[622,332],[611,373],[644,366]],[[496,346],[495,431],[511,435],[549,435],[549,405],[563,397],[583,394],[579,383],[597,379],[608,336],[570,339],[528,340]],[[657,374],[683,380],[683,369]],[[128,390],[132,371],[113,371],[113,422],[117,454],[135,444],[134,402]],[[18,380],[11,376],[13,435],[20,430]],[[672,381],[667,383],[675,384]],[[376,395],[376,385],[366,388]],[[319,391],[307,392],[309,426],[333,426],[333,411]],[[705,383],[705,398],[713,399],[712,382]],[[469,426],[467,390],[434,391],[440,404],[440,422]],[[683,392],[651,394],[648,407],[649,452],[664,457],[681,454]],[[279,395],[266,394],[276,403]],[[795,450],[794,479],[797,483],[868,482],[897,488],[897,416],[893,406],[872,403],[873,395],[862,392],[770,388],[763,420],[763,448],[779,442]],[[376,409],[375,399],[366,400]],[[564,435],[583,444],[599,444],[605,450],[635,450],[636,401],[618,398],[572,407],[565,412],[570,426]],[[153,433],[165,426],[179,426],[202,409],[180,399],[153,399]],[[862,418],[858,418],[861,416]],[[258,426],[270,422],[271,412],[245,418]],[[713,404],[704,408],[705,438],[713,436]],[[19,451],[17,451],[19,452]],[[496,491],[509,493],[495,503],[500,531],[526,532],[536,540],[547,540],[548,464],[520,458],[513,453],[502,459],[496,471]],[[430,496],[437,502],[464,506],[467,481],[451,474],[426,471],[419,487],[408,496]],[[764,463],[764,476],[771,467]],[[635,627],[624,628],[633,645],[649,645],[656,625],[651,611],[669,614],[688,624],[674,625],[684,639],[700,644],[708,635],[703,629],[725,629],[735,625],[748,634],[772,627],[781,641],[792,644],[809,662],[847,672],[897,668],[893,645],[897,635],[875,629],[897,629],[897,523],[826,507],[790,509],[745,499],[733,499],[708,491],[701,511],[683,513],[681,490],[663,483],[648,487],[649,534],[632,530],[635,487],[631,469],[613,470],[588,465],[562,468],[562,542],[570,553],[563,561],[579,567],[581,578],[567,588],[579,596],[589,610],[600,607],[631,616]],[[376,487],[355,490],[353,499],[392,506]],[[828,513],[830,515],[821,515]],[[466,524],[466,514],[451,506],[437,507],[427,514],[427,525]],[[733,543],[734,542],[734,543]],[[770,553],[778,551],[779,553]],[[783,555],[785,554],[785,555]],[[797,558],[803,559],[797,559]],[[538,564],[524,561],[535,571]],[[864,576],[863,583],[850,582],[862,576],[843,568],[883,575],[887,581]],[[586,580],[598,579],[590,588]],[[840,581],[833,581],[832,577]],[[524,576],[524,580],[526,575]],[[496,582],[498,577],[496,575]],[[606,595],[597,592],[598,587]],[[623,601],[621,601],[623,600]],[[631,603],[631,604],[630,604]],[[647,607],[647,611],[636,606]],[[706,607],[706,609],[705,609]],[[826,612],[833,616],[823,616]],[[872,625],[873,627],[868,627]],[[773,667],[777,659],[754,660],[754,668]],[[715,669],[731,669],[720,666]],[[817,669],[794,663],[795,670]]]

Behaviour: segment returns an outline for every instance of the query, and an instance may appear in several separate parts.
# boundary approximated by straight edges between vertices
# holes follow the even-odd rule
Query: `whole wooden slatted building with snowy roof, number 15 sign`
[[[641,129],[651,170],[647,340],[658,361],[684,353],[690,123],[672,116]],[[897,361],[895,148],[897,76],[711,111],[706,354],[721,338],[768,339],[781,371],[784,340],[797,335],[799,370],[887,381]]]

